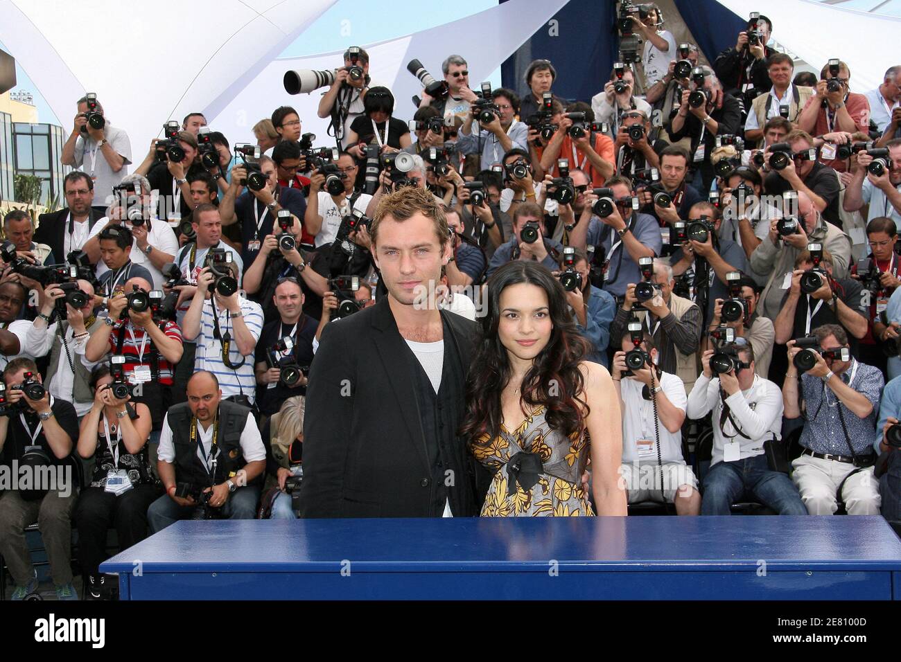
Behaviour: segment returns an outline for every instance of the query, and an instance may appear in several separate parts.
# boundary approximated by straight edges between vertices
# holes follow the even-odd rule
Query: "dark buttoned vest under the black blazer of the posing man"
[[[415,379],[416,404],[423,426],[426,457],[432,467],[428,516],[441,517],[445,501],[450,500],[451,512],[460,517],[470,514],[465,512],[468,510],[465,504],[469,499],[462,494],[462,490],[468,489],[469,485],[469,480],[463,473],[467,471],[465,449],[456,434],[461,413],[458,405],[463,402],[461,386],[465,377],[451,330],[447,322],[443,326],[444,363],[438,394],[435,394],[432,382],[412,350],[409,360]],[[449,483],[453,486],[448,485]]]

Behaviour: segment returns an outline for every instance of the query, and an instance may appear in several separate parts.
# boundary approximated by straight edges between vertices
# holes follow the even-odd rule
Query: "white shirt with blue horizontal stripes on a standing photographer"
[[[253,335],[254,343],[259,340],[259,334],[263,331],[263,309],[248,299],[241,297],[241,313],[244,313],[244,323]],[[196,370],[209,370],[219,380],[219,387],[223,396],[239,395],[241,393],[254,402],[257,390],[257,379],[253,373],[253,352],[245,357],[238,351],[238,343],[234,340],[234,322],[229,317],[228,310],[216,306],[216,317],[219,321],[219,331],[224,335],[226,331],[232,337],[229,347],[229,361],[232,365],[241,363],[237,368],[226,367],[223,363],[223,346],[218,338],[214,338],[213,302],[207,299],[204,302],[204,312],[200,320],[200,333],[197,334],[197,353],[194,363]]]

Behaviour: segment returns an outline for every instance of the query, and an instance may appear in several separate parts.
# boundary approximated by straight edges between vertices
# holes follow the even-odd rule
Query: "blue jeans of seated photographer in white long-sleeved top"
[[[737,462],[717,462],[704,476],[702,515],[729,515],[730,506],[751,496],[780,515],[806,515],[791,478],[781,471],[771,471],[767,456],[740,459]]]

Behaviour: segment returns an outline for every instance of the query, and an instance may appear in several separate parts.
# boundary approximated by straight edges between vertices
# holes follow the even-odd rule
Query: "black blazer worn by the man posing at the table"
[[[450,328],[444,341],[456,343],[468,374],[478,324],[447,311],[441,317]],[[429,512],[432,467],[408,362],[387,296],[325,326],[306,390],[301,517],[436,514]],[[464,403],[456,405],[461,418]],[[467,470],[448,488],[451,510],[477,515],[481,467],[457,441]]]

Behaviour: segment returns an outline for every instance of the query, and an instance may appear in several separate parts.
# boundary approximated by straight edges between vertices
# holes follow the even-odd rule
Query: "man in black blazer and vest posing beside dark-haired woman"
[[[475,515],[484,488],[456,430],[478,325],[434,302],[447,219],[427,191],[404,187],[378,205],[371,236],[388,294],[323,331],[306,393],[301,516]]]

